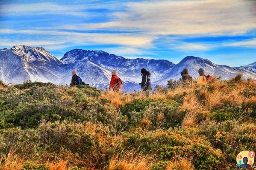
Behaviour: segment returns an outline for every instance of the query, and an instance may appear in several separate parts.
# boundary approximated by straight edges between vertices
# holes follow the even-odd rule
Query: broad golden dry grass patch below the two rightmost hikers
[[[197,123],[198,115],[205,115],[207,119],[207,111],[214,108],[222,108],[224,105],[240,105],[243,104],[250,107],[256,104],[256,97],[246,98],[241,92],[256,88],[253,81],[243,81],[240,76],[232,79],[233,85],[227,86],[226,82],[214,82],[203,88],[196,94],[196,89],[200,85],[192,85],[191,87],[179,87],[168,91],[169,99],[177,99],[183,96],[182,105],[178,111],[185,111],[183,126],[194,126]],[[202,114],[203,113],[203,114]]]

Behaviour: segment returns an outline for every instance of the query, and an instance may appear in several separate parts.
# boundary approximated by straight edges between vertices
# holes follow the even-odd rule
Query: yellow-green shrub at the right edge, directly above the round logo
[[[242,150],[256,150],[256,125],[241,124],[235,121],[205,122],[201,132],[227,156],[227,161],[236,161],[236,155]]]

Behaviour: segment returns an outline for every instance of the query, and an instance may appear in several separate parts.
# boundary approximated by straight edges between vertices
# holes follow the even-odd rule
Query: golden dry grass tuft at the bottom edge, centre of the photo
[[[151,158],[147,155],[133,156],[132,153],[127,153],[125,156],[110,159],[109,170],[149,170],[152,164]]]

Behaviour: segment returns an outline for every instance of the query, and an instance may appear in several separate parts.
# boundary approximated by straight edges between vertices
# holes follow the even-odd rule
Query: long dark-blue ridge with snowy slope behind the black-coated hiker
[[[141,68],[150,70],[152,80],[157,81],[162,79],[165,74],[168,74],[174,66],[174,63],[168,60],[126,59],[104,51],[86,51],[82,49],[68,51],[61,61],[66,64],[77,61],[90,61],[108,71],[116,69],[119,76],[135,83],[141,81]]]

